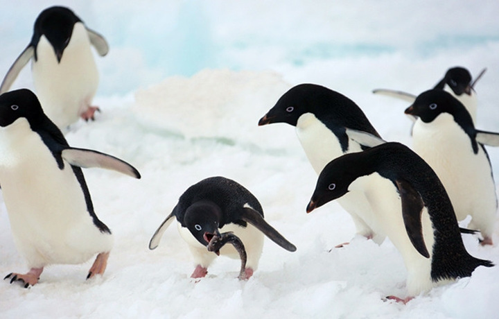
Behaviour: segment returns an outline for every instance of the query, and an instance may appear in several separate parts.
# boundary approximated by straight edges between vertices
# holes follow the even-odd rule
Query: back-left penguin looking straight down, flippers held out
[[[90,46],[104,56],[104,37],[87,28],[69,8],[53,6],[38,15],[31,41],[8,70],[0,86],[7,92],[19,72],[32,60],[37,97],[44,112],[61,130],[78,121],[94,119],[91,106],[98,86],[98,70]]]

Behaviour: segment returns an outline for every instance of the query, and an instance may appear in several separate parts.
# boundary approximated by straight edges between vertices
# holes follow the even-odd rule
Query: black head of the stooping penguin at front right
[[[307,213],[349,192],[350,184],[358,177],[353,169],[355,164],[351,161],[350,155],[338,157],[322,169],[315,191],[306,207]]]

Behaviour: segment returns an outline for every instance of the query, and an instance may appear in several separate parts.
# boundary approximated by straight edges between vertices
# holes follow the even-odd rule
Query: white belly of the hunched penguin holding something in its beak
[[[189,229],[182,227],[177,223],[180,236],[189,244],[195,263],[207,267],[216,257],[214,252],[209,252],[206,246],[202,245],[195,237],[189,232]],[[227,224],[220,228],[220,233],[234,232],[236,236],[243,242],[245,246],[247,261],[246,267],[256,270],[258,268],[259,260],[263,250],[263,232],[257,230],[253,225],[247,224],[247,227],[241,227],[236,224]],[[236,248],[230,243],[225,244],[220,249],[220,255],[224,255],[233,259],[240,259],[239,253]]]

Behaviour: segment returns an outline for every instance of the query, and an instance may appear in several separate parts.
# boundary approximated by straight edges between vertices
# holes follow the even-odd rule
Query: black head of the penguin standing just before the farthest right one
[[[405,110],[405,114],[411,114],[421,118],[421,121],[430,123],[439,114],[448,113],[455,117],[456,114],[470,117],[464,105],[457,99],[441,89],[430,89],[417,96],[410,107]]]

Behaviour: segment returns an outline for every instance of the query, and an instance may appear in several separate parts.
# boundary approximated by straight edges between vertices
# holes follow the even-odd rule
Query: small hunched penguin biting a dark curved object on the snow
[[[282,248],[290,252],[296,250],[295,245],[263,219],[263,209],[252,193],[238,182],[221,176],[201,180],[180,196],[171,214],[152,236],[150,250],[157,248],[173,218],[177,219],[180,236],[189,244],[196,264],[192,278],[207,275],[208,266],[218,255],[209,252],[207,245],[220,232],[233,232],[245,247],[247,263],[240,279],[249,279],[258,267],[264,234]],[[220,255],[240,258],[232,245],[223,246]]]

